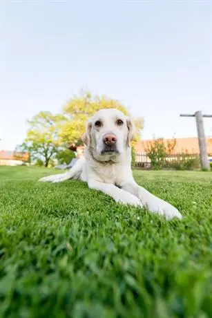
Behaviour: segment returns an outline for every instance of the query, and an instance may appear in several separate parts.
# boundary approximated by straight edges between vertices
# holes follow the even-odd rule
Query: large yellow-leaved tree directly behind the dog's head
[[[92,117],[99,109],[115,108],[122,111],[125,115],[129,115],[128,109],[119,101],[110,99],[106,96],[92,95],[88,92],[81,91],[79,95],[71,98],[64,106],[64,115],[67,121],[64,122],[59,135],[61,140],[67,143],[80,144],[81,135],[85,131],[86,121]],[[137,129],[136,138],[139,138],[143,128],[143,119],[137,118],[135,121]]]

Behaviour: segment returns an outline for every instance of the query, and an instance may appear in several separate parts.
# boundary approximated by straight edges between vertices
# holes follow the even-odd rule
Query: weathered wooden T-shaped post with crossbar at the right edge
[[[197,135],[200,147],[200,162],[204,170],[210,170],[206,139],[204,135],[203,117],[212,118],[212,115],[202,115],[202,111],[196,111],[194,114],[180,114],[180,117],[195,117],[197,124]]]

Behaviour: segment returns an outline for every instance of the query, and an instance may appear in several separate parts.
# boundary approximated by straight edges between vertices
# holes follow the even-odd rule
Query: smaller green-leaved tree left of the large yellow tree
[[[27,137],[22,144],[22,149],[29,151],[34,159],[40,159],[48,167],[59,148],[59,129],[66,120],[64,115],[52,115],[48,111],[41,111],[28,120],[29,129]]]

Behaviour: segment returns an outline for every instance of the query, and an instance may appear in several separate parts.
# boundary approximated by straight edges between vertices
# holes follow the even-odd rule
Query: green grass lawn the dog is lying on
[[[212,317],[212,173],[135,171],[166,222],[52,171],[0,167],[0,317]]]

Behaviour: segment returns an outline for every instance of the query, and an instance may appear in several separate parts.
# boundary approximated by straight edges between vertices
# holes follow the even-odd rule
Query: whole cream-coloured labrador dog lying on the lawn
[[[80,179],[90,189],[104,192],[116,202],[148,209],[167,219],[182,218],[171,204],[157,198],[135,183],[131,170],[131,139],[134,126],[130,118],[117,109],[97,111],[88,121],[82,136],[86,150],[66,174],[41,178],[40,181],[60,183]]]

